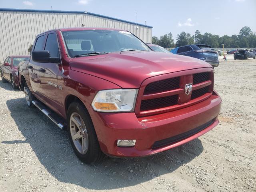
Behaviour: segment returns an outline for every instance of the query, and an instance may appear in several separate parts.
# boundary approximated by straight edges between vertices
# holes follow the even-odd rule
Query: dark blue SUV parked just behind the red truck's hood
[[[214,51],[210,45],[195,44],[195,45],[185,45],[177,47],[171,50],[173,54],[185,55],[200,60],[206,61],[212,65],[212,68],[219,66],[218,52]]]

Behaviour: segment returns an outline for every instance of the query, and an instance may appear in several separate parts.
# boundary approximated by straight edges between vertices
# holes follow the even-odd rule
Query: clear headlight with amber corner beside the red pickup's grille
[[[99,91],[92,101],[92,108],[99,112],[132,112],[138,89],[111,89]]]

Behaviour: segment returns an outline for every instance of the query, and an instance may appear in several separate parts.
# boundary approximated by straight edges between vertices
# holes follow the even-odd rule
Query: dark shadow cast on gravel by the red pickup
[[[105,158],[96,165],[86,165],[73,153],[67,132],[60,130],[38,109],[29,109],[24,98],[8,100],[6,104],[26,141],[2,143],[28,142],[40,163],[54,178],[88,189],[108,190],[135,186],[173,172],[203,151],[201,141],[196,139],[154,156]]]

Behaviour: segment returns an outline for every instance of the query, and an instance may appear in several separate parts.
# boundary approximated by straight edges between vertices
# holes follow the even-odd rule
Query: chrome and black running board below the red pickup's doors
[[[39,101],[32,101],[32,104],[34,104],[40,111],[42,111],[52,122],[54,122],[59,128],[65,129],[66,125],[64,123],[64,120],[57,114],[51,112],[44,104],[42,104]]]

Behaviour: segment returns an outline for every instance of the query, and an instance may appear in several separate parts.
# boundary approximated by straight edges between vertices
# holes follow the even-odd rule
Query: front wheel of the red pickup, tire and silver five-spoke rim
[[[67,112],[68,137],[76,156],[86,164],[104,158],[92,120],[84,104],[73,102]]]

